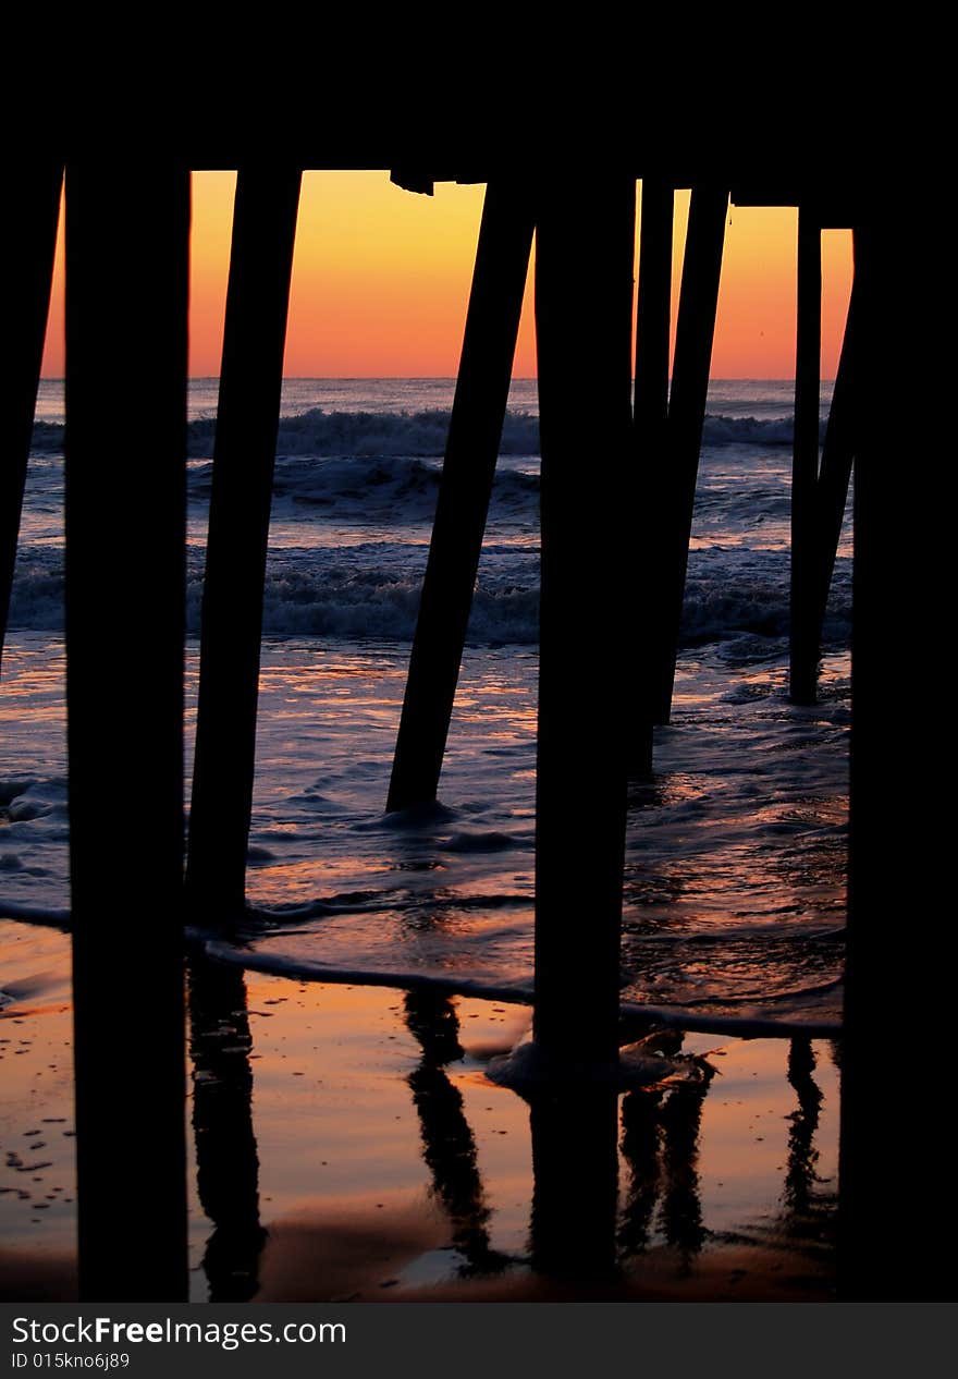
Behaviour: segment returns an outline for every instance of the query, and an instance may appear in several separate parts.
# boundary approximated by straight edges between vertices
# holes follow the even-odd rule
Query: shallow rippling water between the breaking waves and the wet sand
[[[194,670],[194,658],[190,662]],[[62,650],[12,638],[0,826],[4,912],[59,918],[66,881]],[[340,965],[528,986],[532,975],[535,670],[528,648],[466,654],[440,804],[383,814],[405,658],[397,648],[267,641],[247,928],[289,972]],[[190,681],[193,684],[193,681]],[[631,789],[623,996],[733,1014],[776,1009],[841,972],[848,684],[815,709],[783,667],[680,663],[656,775]],[[59,750],[57,750],[59,747]],[[109,819],[136,782],[103,782]],[[576,808],[571,801],[569,808]],[[822,1019],[837,993],[811,996]],[[801,1004],[801,1003],[799,1003]]]

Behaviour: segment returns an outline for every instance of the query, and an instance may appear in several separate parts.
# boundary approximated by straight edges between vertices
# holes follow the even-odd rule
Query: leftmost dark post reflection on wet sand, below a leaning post
[[[248,1302],[259,1287],[266,1231],[259,1222],[252,1038],[243,969],[193,950],[189,1014],[197,1193],[214,1225],[203,1270],[210,1302]]]

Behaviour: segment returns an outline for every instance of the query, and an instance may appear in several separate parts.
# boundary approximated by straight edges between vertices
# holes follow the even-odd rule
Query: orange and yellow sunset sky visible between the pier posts
[[[193,174],[190,375],[194,378],[219,374],[234,186],[234,172]],[[437,183],[434,196],[418,196],[393,186],[385,171],[305,172],[285,375],[455,375],[482,194],[482,186]],[[677,193],[675,212],[677,301],[688,192]],[[794,208],[731,207],[713,378],[794,376],[795,239]],[[827,230],[823,378],[834,378],[850,273],[850,232]],[[123,348],[130,343],[123,342]],[[513,374],[532,378],[535,372],[529,281]],[[62,243],[43,374],[47,378],[63,374]]]

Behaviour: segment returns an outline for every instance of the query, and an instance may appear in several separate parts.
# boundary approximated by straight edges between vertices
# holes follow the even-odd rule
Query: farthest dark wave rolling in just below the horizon
[[[277,455],[419,455],[441,456],[449,430],[448,410],[420,412],[328,412],[313,407],[295,416],[280,418]],[[143,422],[146,425],[146,421]],[[135,448],[135,423],[117,418],[124,444]],[[189,423],[187,454],[192,459],[212,455],[215,418]],[[709,445],[788,445],[791,418],[706,415],[704,443]],[[39,421],[33,426],[37,454],[63,448],[63,425]],[[502,430],[500,455],[538,455],[539,418],[509,411]]]

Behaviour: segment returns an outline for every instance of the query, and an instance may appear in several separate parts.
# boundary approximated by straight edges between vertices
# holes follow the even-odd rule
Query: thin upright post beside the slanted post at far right
[[[816,492],[822,405],[822,229],[813,207],[798,208],[795,325],[795,432],[791,459],[791,626],[788,691],[815,703],[819,673],[816,629]]]

